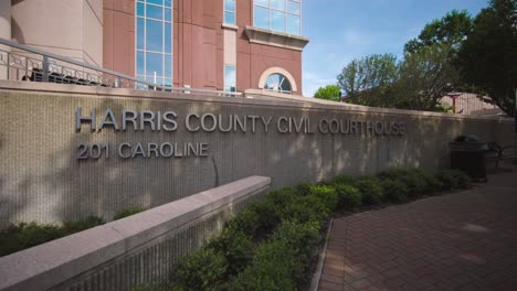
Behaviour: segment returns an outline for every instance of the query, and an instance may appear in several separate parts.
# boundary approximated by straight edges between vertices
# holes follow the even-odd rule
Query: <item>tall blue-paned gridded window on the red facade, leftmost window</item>
[[[172,86],[172,0],[136,1],[137,78]]]

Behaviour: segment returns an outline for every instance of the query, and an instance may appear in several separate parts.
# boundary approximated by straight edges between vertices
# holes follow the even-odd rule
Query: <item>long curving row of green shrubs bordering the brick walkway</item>
[[[320,227],[337,209],[404,202],[468,185],[460,171],[390,169],[376,176],[336,176],[270,191],[209,244],[183,257],[172,290],[295,290],[321,242]]]

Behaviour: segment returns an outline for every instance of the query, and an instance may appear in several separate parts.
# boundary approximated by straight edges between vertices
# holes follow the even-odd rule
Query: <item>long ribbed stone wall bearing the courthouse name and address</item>
[[[0,83],[0,220],[110,219],[251,175],[273,187],[449,166],[461,133],[513,122],[346,105]]]

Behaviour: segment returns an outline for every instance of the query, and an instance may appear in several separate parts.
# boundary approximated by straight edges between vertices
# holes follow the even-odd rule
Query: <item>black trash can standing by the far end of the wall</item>
[[[451,150],[451,169],[466,173],[474,181],[486,182],[485,151],[486,142],[476,136],[460,136],[449,143]]]

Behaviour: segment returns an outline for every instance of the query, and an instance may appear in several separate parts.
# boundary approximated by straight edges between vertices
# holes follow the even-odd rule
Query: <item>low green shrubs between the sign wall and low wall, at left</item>
[[[135,207],[115,214],[114,220],[120,219],[139,212],[143,207]],[[36,223],[21,223],[11,225],[0,231],[0,257],[31,248],[61,237],[103,225],[106,222],[99,217],[89,216],[77,222],[65,222],[63,225],[42,225]]]

